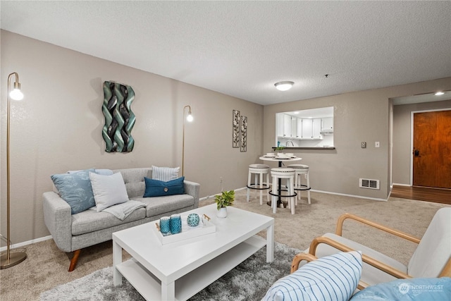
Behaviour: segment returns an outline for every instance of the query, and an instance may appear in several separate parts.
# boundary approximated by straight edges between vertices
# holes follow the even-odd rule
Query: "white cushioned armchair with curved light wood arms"
[[[373,228],[396,235],[418,244],[409,264],[404,266],[395,259],[376,250],[342,237],[345,220],[353,219]],[[326,233],[315,238],[304,253],[297,254],[292,261],[291,272],[299,268],[302,260],[313,260],[336,252],[362,251],[362,278],[359,288],[393,281],[397,278],[451,276],[451,207],[439,209],[429,224],[421,240],[412,235],[388,228],[354,214],[343,214],[338,219],[335,234]],[[307,253],[308,252],[308,253]]]

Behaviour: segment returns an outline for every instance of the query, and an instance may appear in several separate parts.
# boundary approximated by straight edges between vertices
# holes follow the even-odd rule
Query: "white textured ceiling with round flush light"
[[[0,9],[4,30],[258,104],[451,76],[451,1],[2,0]],[[280,80],[295,85],[280,92]]]

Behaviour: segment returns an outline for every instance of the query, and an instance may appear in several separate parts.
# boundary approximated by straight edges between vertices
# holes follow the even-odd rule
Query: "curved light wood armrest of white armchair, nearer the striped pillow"
[[[347,247],[346,245],[343,245],[342,243],[340,243],[338,241],[335,241],[331,238],[326,238],[326,237],[321,236],[321,237],[315,238],[314,240],[311,241],[309,254],[315,255],[316,247],[318,247],[318,245],[321,243],[330,245],[331,247],[335,247],[336,249],[338,249],[342,252],[355,251],[354,249],[351,249],[350,247]],[[374,266],[376,269],[380,269],[381,271],[384,271],[387,274],[395,276],[396,278],[412,278],[412,276],[409,276],[409,275],[405,274],[404,272],[393,268],[393,266],[389,266],[388,264],[379,262],[378,260],[373,259],[372,257],[369,257],[366,254],[362,254],[362,261],[366,262],[366,264],[370,264],[371,266]]]

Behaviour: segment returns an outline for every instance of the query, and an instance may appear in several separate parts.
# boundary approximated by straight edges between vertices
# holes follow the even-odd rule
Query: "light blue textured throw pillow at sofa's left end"
[[[93,173],[94,169],[50,176],[61,198],[70,205],[72,214],[78,214],[96,205],[89,171]]]

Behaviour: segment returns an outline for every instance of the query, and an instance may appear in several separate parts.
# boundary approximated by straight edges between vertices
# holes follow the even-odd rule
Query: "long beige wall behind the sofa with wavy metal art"
[[[152,55],[152,54],[149,54]],[[1,233],[6,235],[6,84],[19,73],[25,98],[11,108],[11,240],[49,235],[42,193],[54,173],[82,168],[180,166],[183,106],[185,177],[201,184],[201,197],[244,187],[249,162],[261,154],[263,106],[177,80],[1,31]],[[101,130],[102,82],[135,90],[132,152],[106,153]],[[247,152],[232,148],[232,110],[247,116]]]

